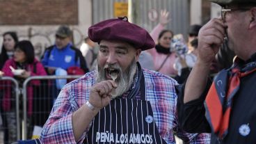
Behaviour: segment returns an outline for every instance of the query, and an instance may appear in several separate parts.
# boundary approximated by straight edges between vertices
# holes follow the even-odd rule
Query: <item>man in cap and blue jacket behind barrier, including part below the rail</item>
[[[48,47],[42,56],[47,74],[56,76],[81,75],[88,72],[86,61],[81,51],[72,45],[72,31],[70,27],[62,25],[56,31],[55,45]],[[67,83],[67,79],[56,79],[51,81],[51,93],[54,101],[59,91]]]

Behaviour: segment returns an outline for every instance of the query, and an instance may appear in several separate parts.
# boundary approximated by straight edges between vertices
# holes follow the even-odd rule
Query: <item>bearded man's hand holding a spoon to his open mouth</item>
[[[97,110],[104,108],[111,101],[111,91],[116,87],[117,84],[112,80],[96,83],[95,86],[90,89],[90,104],[95,106]]]

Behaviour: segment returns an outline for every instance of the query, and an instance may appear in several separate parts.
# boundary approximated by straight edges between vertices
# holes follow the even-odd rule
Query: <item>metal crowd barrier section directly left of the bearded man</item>
[[[35,97],[33,97],[33,100],[38,100],[38,102],[40,100],[42,100],[42,102],[44,102],[44,100],[46,101],[46,103],[49,103],[51,100],[52,100],[52,105],[53,105],[53,99],[52,96],[58,96],[57,95],[54,95],[52,94],[51,92],[53,92],[53,90],[56,90],[56,85],[54,84],[53,80],[56,80],[56,79],[77,79],[79,77],[82,77],[82,75],[67,75],[67,76],[34,76],[34,77],[29,77],[28,79],[26,79],[23,83],[23,86],[22,86],[22,96],[23,96],[23,118],[24,118],[24,127],[22,127],[22,140],[26,140],[27,137],[28,137],[28,126],[27,126],[27,118],[28,118],[28,111],[27,111],[27,104],[28,104],[28,100],[27,99],[27,94],[28,94],[28,91],[27,91],[27,88],[30,85],[30,82],[31,81],[35,81],[35,80],[40,80],[42,82],[42,80],[45,80],[45,83],[44,84],[49,84],[50,86],[48,86],[47,90],[41,90],[40,87],[39,87],[39,93],[40,95],[42,95],[42,93],[46,93],[45,94],[45,97],[44,95],[42,95],[43,97],[36,97],[37,99],[35,99]],[[48,91],[48,93],[46,92]],[[36,92],[33,92],[33,94],[35,94]],[[47,99],[49,98],[49,99]],[[50,100],[51,99],[51,100]],[[37,106],[40,106],[40,104],[38,104]],[[47,104],[44,104],[44,106],[47,106]],[[49,104],[48,104],[48,107],[49,107]],[[34,109],[34,108],[33,108]],[[49,115],[51,109],[47,108],[49,111],[47,110],[44,110],[44,111],[33,111],[33,113],[39,113],[38,115],[40,114],[47,114]],[[33,118],[35,118],[37,116],[34,116]],[[33,119],[32,118],[32,119]],[[44,119],[44,118],[42,118]],[[41,122],[40,122],[41,123]],[[45,123],[45,122],[43,122]],[[30,139],[30,138],[29,138]]]

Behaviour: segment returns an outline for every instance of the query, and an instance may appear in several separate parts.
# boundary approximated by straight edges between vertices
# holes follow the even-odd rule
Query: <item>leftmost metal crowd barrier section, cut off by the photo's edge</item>
[[[11,84],[9,85],[8,83],[5,83],[7,81],[11,82]],[[1,95],[4,95],[6,90],[9,89],[8,87],[10,87],[9,90],[11,90],[11,91],[14,90],[13,92],[14,92],[14,95],[15,95],[16,134],[17,134],[16,138],[17,138],[17,140],[19,140],[20,139],[20,128],[21,128],[20,125],[19,125],[20,124],[19,123],[19,94],[20,94],[19,83],[13,77],[0,77],[0,82],[1,82],[1,85],[2,85],[2,86],[0,86],[2,88],[1,89]],[[13,95],[10,92],[10,99],[9,100],[10,100],[10,103],[12,104],[13,102],[12,102],[11,97],[13,97]],[[3,103],[2,100],[3,99],[0,99],[1,104]],[[1,106],[1,109],[3,109],[2,106]],[[6,113],[6,111],[2,110],[1,115],[4,115],[3,113]],[[6,115],[4,115],[4,116],[6,116]],[[6,123],[8,123],[8,122],[6,122]],[[4,127],[4,126],[6,126],[6,127]],[[2,130],[5,131],[6,129],[8,129],[7,125],[3,125]],[[8,130],[10,130],[10,129],[8,129]],[[2,142],[3,142],[3,140],[0,141],[0,143],[2,143]],[[6,143],[8,143],[8,142],[9,141],[7,141]]]

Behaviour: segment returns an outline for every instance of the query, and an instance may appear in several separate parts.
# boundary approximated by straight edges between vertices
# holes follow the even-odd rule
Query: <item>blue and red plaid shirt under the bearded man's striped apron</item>
[[[175,143],[173,131],[190,143],[209,143],[209,134],[186,134],[177,131],[175,93],[176,81],[159,72],[143,70],[145,77],[145,99],[150,102],[154,120],[161,137],[166,143]],[[58,95],[45,126],[42,129],[42,143],[76,143],[72,129],[72,113],[89,99],[90,88],[95,84],[95,71],[68,83]],[[129,93],[129,91],[127,92]],[[127,94],[125,94],[127,95]],[[136,99],[140,94],[136,96]],[[88,128],[89,129],[89,128]],[[87,129],[87,131],[88,131]],[[86,131],[79,143],[86,137]]]

